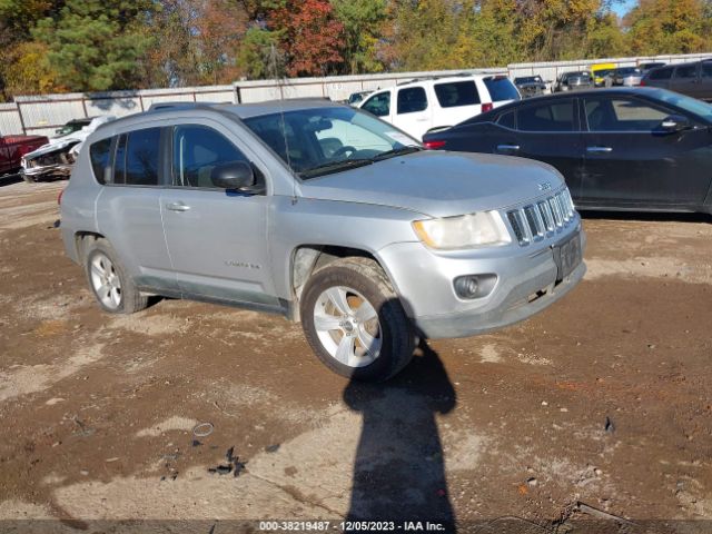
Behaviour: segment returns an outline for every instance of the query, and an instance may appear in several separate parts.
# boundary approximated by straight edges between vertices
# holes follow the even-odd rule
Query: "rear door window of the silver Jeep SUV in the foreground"
[[[160,128],[136,130],[119,138],[115,157],[115,184],[157,186]]]

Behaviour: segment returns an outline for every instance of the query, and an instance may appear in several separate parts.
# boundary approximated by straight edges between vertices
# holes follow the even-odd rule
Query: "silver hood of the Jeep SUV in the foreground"
[[[301,195],[449,217],[522,204],[542,196],[540,185],[544,182],[555,190],[563,180],[553,167],[540,161],[424,150],[310,178],[301,184]]]

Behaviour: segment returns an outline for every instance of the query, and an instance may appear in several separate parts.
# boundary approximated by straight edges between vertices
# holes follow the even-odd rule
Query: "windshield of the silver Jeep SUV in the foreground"
[[[422,149],[407,134],[349,107],[261,115],[244,122],[304,179]]]

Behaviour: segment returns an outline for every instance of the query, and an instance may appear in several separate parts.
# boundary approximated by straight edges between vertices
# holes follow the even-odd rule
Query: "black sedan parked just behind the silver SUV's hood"
[[[712,105],[664,89],[537,97],[423,140],[547,162],[578,208],[712,214]]]

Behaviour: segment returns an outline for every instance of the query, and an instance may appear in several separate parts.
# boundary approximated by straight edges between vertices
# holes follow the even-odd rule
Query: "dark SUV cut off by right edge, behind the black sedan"
[[[712,100],[712,59],[650,70],[641,86],[660,87],[701,100]]]

